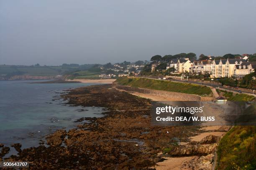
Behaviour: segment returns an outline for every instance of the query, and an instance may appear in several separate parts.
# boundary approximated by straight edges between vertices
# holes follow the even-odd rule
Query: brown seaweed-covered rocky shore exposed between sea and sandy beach
[[[151,126],[150,100],[118,91],[112,85],[79,87],[61,97],[69,105],[105,107],[107,111],[104,117],[77,120],[89,123],[81,122],[68,132],[57,130],[48,135],[49,147],[21,150],[20,144],[13,144],[18,155],[4,160],[29,161],[30,169],[153,169],[165,157],[196,155],[197,163],[209,162],[197,166],[209,168],[212,164],[219,138],[207,136],[193,142],[189,138],[200,133],[200,127]],[[8,147],[1,150],[0,161]],[[192,168],[193,163],[186,167]]]

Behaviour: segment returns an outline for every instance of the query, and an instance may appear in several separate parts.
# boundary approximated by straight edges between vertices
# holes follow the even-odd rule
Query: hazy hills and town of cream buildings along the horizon
[[[232,87],[256,89],[256,54],[223,56],[180,53],[148,60],[107,64],[0,65],[0,80],[107,79],[122,76],[177,76],[214,80]]]

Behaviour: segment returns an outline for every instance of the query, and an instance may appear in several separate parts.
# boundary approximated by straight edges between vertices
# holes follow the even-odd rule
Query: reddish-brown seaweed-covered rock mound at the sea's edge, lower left
[[[46,137],[47,145],[60,146],[66,135],[66,130],[57,130],[55,133]]]

